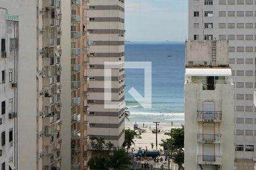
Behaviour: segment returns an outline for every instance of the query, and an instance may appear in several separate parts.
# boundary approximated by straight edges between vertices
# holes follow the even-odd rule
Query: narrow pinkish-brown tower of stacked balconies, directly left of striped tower
[[[88,169],[89,1],[71,0],[71,169]]]

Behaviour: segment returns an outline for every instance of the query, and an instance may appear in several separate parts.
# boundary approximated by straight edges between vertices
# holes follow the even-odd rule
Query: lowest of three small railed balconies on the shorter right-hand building
[[[197,164],[221,165],[222,156],[197,155]]]

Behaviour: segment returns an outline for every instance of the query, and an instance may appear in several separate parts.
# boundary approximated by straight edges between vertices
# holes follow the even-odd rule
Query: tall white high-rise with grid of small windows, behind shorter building
[[[189,2],[189,40],[228,40],[234,90],[235,157],[255,159],[256,114],[254,0],[192,0]],[[253,164],[253,162],[251,161]],[[245,168],[245,167],[243,167]]]

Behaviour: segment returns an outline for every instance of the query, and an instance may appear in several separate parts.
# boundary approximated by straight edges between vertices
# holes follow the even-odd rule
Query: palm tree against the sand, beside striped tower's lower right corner
[[[133,141],[135,138],[141,139],[141,133],[137,133],[135,130],[125,129],[125,141],[123,142],[123,147],[127,147],[127,153],[131,146],[135,145]]]

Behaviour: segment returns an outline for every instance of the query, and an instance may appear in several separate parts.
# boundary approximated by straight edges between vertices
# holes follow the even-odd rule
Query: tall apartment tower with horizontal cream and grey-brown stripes
[[[125,2],[124,0],[90,0],[88,134],[121,147],[125,139]],[[105,76],[105,62],[115,65],[112,75]],[[104,84],[111,82],[111,87]],[[106,98],[110,98],[105,100]],[[109,104],[110,102],[114,104]],[[109,107],[112,105],[112,107]]]

